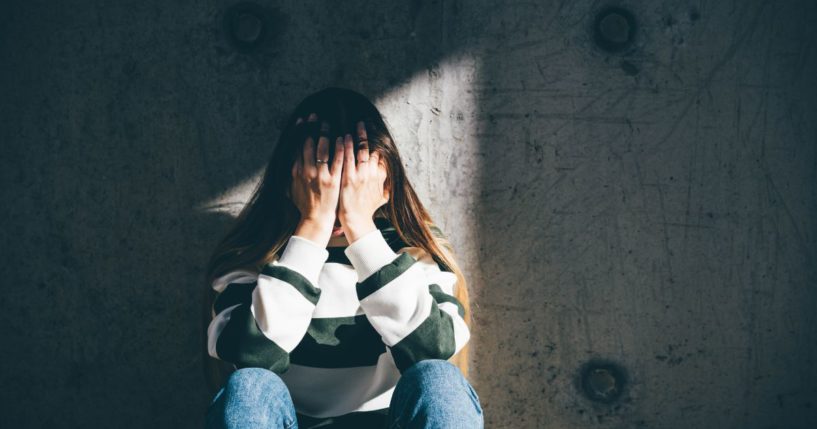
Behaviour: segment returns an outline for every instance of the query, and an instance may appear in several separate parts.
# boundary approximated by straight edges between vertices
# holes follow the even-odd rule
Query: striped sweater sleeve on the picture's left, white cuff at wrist
[[[213,282],[218,292],[207,330],[210,356],[236,368],[262,367],[278,374],[301,342],[321,290],[318,278],[329,251],[293,235],[281,257],[261,272],[234,271]]]

